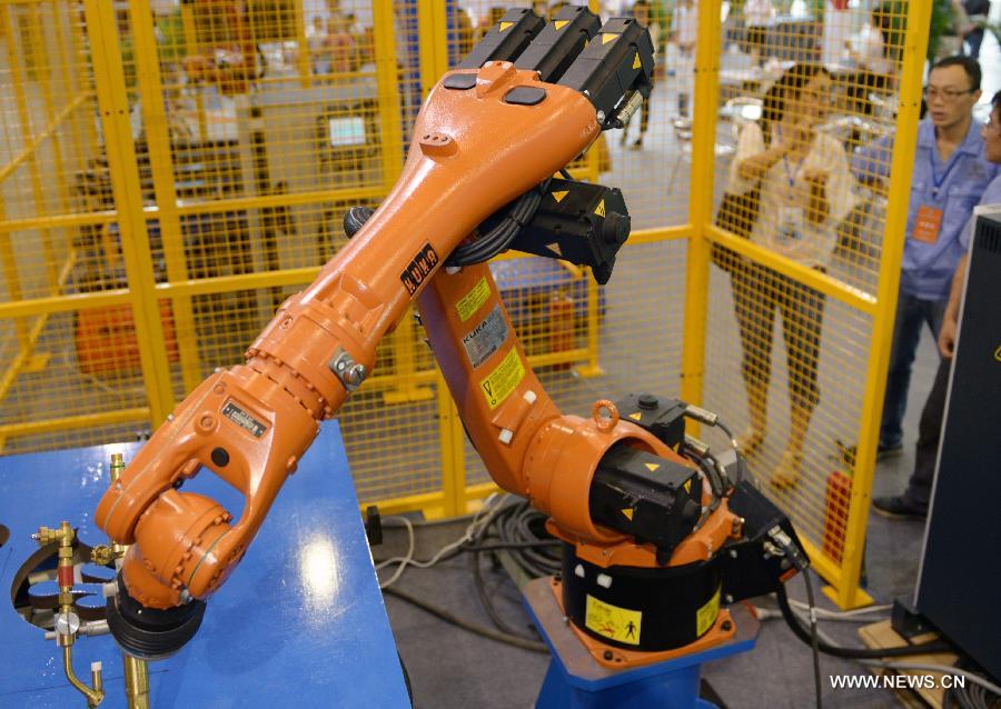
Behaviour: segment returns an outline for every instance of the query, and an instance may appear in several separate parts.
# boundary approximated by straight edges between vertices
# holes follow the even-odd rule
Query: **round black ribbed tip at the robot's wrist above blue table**
[[[108,629],[119,647],[141,660],[165,660],[195,637],[205,616],[205,601],[160,610],[129,596],[119,572],[118,592],[108,599]]]

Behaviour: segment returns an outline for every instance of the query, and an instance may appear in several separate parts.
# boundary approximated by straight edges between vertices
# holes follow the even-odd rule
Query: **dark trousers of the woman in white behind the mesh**
[[[749,385],[767,388],[772,375],[775,310],[789,361],[793,406],[812,412],[820,401],[817,362],[825,296],[765,266],[737,261],[732,271],[733,302],[741,332],[741,372]]]

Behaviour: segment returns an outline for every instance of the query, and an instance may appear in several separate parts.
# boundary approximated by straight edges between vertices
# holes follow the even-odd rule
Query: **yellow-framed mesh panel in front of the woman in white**
[[[905,3],[822,17],[735,11],[720,48],[717,227],[705,402],[743,430],[750,467],[799,533],[840,566],[866,390]],[[809,11],[807,11],[809,12]],[[885,160],[889,161],[889,152]]]

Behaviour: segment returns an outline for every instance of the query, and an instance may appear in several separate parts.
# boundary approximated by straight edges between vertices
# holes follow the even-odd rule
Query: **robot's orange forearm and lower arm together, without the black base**
[[[559,413],[528,367],[482,262],[488,257],[468,258],[483,256],[477,247],[488,241],[467,239],[477,227],[526,193],[537,196],[648,92],[645,29],[611,20],[602,41],[587,44],[597,18],[583,8],[562,12],[566,21],[544,28],[528,10],[509,11],[446,74],[378,210],[278,309],[246,362],[217,370],[192,391],[109,488],[96,521],[131,545],[108,602],[109,626],[128,651],[158,658],[190,639],[204,599],[239,562],[319,422],[364,382],[379,341],[415,300],[490,475],[549,515],[551,529],[579,558],[601,567],[690,563],[739,536],[725,500],[703,509],[711,496],[694,466],[648,430],[620,421],[611,402],[596,405],[611,418]],[[617,249],[626,233],[620,221],[599,240]],[[467,257],[462,268],[446,269],[458,254]],[[595,270],[605,279],[607,272]],[[621,485],[637,466],[673,467],[676,482],[658,483],[671,492],[668,503],[645,507]],[[201,469],[244,495],[239,519],[179,489]],[[607,475],[611,482],[602,483]],[[695,489],[674,490],[686,481]]]

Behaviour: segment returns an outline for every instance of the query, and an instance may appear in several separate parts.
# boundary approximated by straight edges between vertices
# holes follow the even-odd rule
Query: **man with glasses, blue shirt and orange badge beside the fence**
[[[983,138],[973,126],[980,78],[975,59],[949,57],[932,67],[924,89],[928,116],[918,128],[880,457],[903,449],[901,423],[921,326],[928,323],[938,339],[950,279],[964,251],[960,233],[983,190],[999,174],[999,167],[984,158]],[[889,178],[891,150],[888,137],[861,151],[853,162],[859,179]]]

